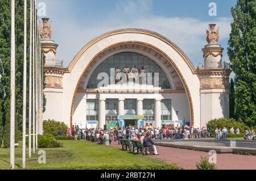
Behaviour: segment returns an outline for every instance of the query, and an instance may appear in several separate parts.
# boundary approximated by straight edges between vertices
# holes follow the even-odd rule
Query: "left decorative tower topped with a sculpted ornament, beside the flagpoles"
[[[47,99],[46,114],[44,115],[53,115],[52,119],[60,121],[63,120],[63,114],[55,114],[54,112],[63,111],[63,75],[66,69],[63,66],[63,61],[56,60],[58,45],[51,39],[52,22],[49,22],[49,18],[42,18],[42,20],[43,22],[40,23],[40,36],[42,39],[42,51],[46,60],[44,64],[44,71],[46,72],[44,95],[46,95]]]

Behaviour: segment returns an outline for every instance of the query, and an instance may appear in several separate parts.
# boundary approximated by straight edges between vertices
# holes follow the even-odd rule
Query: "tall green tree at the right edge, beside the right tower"
[[[256,0],[238,0],[232,7],[228,55],[236,74],[235,115],[250,127],[256,125]]]

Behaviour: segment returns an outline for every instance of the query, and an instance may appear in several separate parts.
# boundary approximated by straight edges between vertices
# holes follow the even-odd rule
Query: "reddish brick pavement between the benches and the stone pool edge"
[[[121,148],[117,142],[112,146]],[[156,146],[159,155],[152,155],[152,158],[160,159],[166,163],[175,163],[183,169],[196,169],[196,162],[202,157],[210,157],[207,152],[186,149],[177,149],[164,146]],[[238,154],[217,154],[217,169],[219,170],[256,170],[256,156]]]

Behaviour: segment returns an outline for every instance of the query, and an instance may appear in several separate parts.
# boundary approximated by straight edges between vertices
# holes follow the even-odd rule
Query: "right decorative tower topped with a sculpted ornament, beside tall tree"
[[[212,119],[229,118],[230,64],[222,60],[224,48],[218,44],[219,28],[209,24],[207,42],[203,48],[204,63],[197,67],[200,78],[201,127]]]

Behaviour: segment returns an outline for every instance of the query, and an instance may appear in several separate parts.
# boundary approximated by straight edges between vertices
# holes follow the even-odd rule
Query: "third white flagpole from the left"
[[[30,0],[30,91],[28,110],[28,157],[31,158],[31,116],[32,116],[32,0]]]

